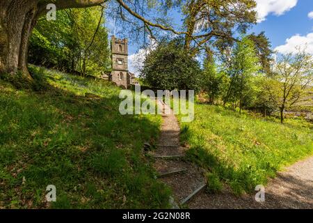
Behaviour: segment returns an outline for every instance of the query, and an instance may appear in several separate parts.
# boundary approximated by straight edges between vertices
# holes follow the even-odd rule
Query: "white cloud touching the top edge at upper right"
[[[266,20],[270,14],[283,15],[296,6],[298,0],[255,0],[257,2],[257,22]]]

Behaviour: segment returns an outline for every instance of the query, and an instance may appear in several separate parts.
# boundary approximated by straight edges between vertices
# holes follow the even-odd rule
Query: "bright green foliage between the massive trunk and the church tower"
[[[85,64],[85,75],[106,71],[109,42],[104,19],[97,30],[101,14],[101,7],[92,7],[58,10],[55,21],[41,17],[31,36],[29,62],[67,72],[83,72]]]

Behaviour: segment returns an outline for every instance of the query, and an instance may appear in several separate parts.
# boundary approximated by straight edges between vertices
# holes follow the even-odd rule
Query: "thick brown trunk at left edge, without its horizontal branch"
[[[31,80],[27,71],[27,47],[38,12],[37,2],[1,1],[0,10],[0,73],[20,70]]]

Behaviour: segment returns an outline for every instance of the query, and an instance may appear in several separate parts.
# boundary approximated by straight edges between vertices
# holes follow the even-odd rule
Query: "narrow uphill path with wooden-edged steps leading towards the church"
[[[158,107],[165,105],[157,100]],[[164,112],[163,109],[163,112]],[[163,114],[161,135],[157,151],[154,152],[156,161],[154,167],[159,171],[160,179],[172,188],[174,195],[173,206],[184,206],[205,185],[202,171],[191,162],[184,160],[186,148],[179,144],[179,123],[174,114]]]

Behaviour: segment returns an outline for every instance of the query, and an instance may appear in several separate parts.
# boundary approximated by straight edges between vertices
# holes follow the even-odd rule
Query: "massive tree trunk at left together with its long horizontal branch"
[[[105,0],[1,0],[0,1],[0,74],[17,71],[32,81],[27,70],[29,37],[38,17],[48,3],[57,9],[97,6]]]

